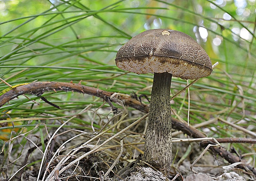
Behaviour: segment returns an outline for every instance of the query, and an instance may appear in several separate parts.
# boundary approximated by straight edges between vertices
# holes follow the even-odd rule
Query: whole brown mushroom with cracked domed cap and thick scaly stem
[[[142,160],[156,163],[167,174],[171,168],[171,78],[209,76],[212,64],[204,49],[189,35],[168,29],[147,30],[124,44],[116,66],[136,74],[154,73],[148,126]]]

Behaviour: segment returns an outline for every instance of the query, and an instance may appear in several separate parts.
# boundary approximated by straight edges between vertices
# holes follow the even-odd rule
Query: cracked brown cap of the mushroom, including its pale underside
[[[197,79],[212,72],[204,49],[189,35],[153,29],[136,35],[116,54],[116,66],[137,74],[169,72],[173,77]]]

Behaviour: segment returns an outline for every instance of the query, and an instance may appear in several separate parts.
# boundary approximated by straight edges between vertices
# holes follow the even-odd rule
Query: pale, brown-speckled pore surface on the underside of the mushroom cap
[[[142,56],[139,60],[134,60],[133,58],[125,57],[122,60],[117,59],[116,66],[136,74],[168,72],[173,77],[182,79],[197,79],[211,74],[211,69],[204,65],[173,57],[166,57],[163,61],[163,58],[161,56]]]

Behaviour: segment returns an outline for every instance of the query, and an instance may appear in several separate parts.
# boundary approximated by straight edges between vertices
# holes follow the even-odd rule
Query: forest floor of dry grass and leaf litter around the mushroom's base
[[[133,115],[138,113],[138,111],[134,111]],[[133,115],[130,116],[132,117]],[[119,131],[128,124],[127,122],[123,123],[123,125],[119,124],[112,131]],[[111,131],[101,134],[99,137],[101,139],[95,139],[94,142],[85,144],[86,141],[93,139],[99,134],[85,132],[83,129],[71,130],[66,127],[61,128],[59,130],[60,134],[51,140],[47,154],[44,155],[46,161],[43,165],[41,165],[43,151],[39,132],[28,135],[27,140],[29,141],[24,146],[15,146],[21,142],[22,137],[18,137],[11,144],[7,142],[6,146],[10,150],[8,156],[6,156],[7,153],[0,154],[0,162],[3,163],[0,170],[2,172],[0,181],[7,181],[11,176],[13,176],[11,180],[14,181],[36,181],[39,170],[41,173],[40,180],[45,174],[44,180],[54,181],[161,181],[168,179],[170,181],[172,179],[173,181],[214,181],[225,172],[235,172],[239,177],[234,177],[233,179],[218,178],[217,181],[250,181],[255,179],[255,176],[250,176],[248,172],[242,169],[236,167],[225,168],[225,166],[230,164],[212,151],[204,153],[196,165],[194,165],[193,172],[190,166],[204,151],[200,147],[199,142],[173,143],[173,166],[167,177],[161,175],[161,172],[154,171],[152,168],[142,168],[140,167],[140,160],[136,161],[136,159],[140,158],[143,151],[143,144],[141,142],[144,141],[143,127],[145,127],[145,124],[145,120],[141,121],[133,130],[124,132],[106,145],[102,145],[102,143],[114,135]],[[51,129],[48,134],[52,135],[55,130]],[[175,138],[187,138],[187,136],[180,133]],[[123,145],[121,145],[121,139],[124,140]],[[137,144],[129,144],[128,141]],[[49,139],[45,139],[44,144],[47,145],[47,143],[49,143]],[[63,145],[65,147],[62,147]],[[228,145],[222,144],[221,146],[225,148]],[[97,150],[93,151],[95,148]],[[67,159],[64,160],[65,158]],[[50,164],[48,164],[49,162]],[[61,164],[58,165],[59,163]],[[70,163],[71,165],[69,165]],[[113,167],[111,167],[112,165]],[[63,168],[64,171],[62,172]],[[195,174],[196,172],[200,174]],[[50,174],[52,176],[49,176]],[[107,177],[104,177],[106,174]],[[47,176],[48,179],[46,179]]]

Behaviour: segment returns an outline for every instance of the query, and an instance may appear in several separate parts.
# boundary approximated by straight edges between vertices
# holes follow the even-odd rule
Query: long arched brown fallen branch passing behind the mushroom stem
[[[100,90],[98,88],[92,88],[89,86],[83,86],[81,84],[74,84],[74,83],[65,83],[65,82],[32,82],[30,84],[17,86],[6,93],[2,94],[0,96],[0,107],[2,107],[4,104],[9,102],[10,100],[18,97],[19,95],[23,94],[33,94],[33,95],[42,95],[45,91],[72,91],[72,92],[78,92],[78,93],[85,93],[89,95],[93,95],[96,97],[101,97],[103,100],[111,100],[112,102],[118,103],[119,100],[122,100],[124,102],[124,105],[133,107],[137,110],[140,110],[142,112],[148,113],[149,107],[145,104],[142,104],[140,101],[136,100],[132,96],[123,95],[123,94],[116,94],[107,92],[104,90]],[[111,96],[113,94],[118,95],[118,99],[114,98],[115,96]],[[193,138],[204,138],[206,137],[203,133],[201,133],[199,130],[192,126],[188,126],[187,123],[182,123],[178,119],[172,118],[172,125],[175,130],[181,130],[183,133],[189,135]],[[211,142],[208,142],[207,144],[211,144]],[[204,144],[201,144],[202,147],[205,147],[206,142]],[[245,161],[243,161],[241,158],[239,158],[236,155],[233,155],[229,151],[226,151],[223,147],[211,147],[210,148],[213,153],[218,153],[220,156],[225,158],[228,162],[235,163],[235,162],[242,162],[243,165],[237,165],[237,167],[242,168],[244,170],[251,170],[254,175],[256,175],[256,169],[254,167],[251,167],[248,165]]]

